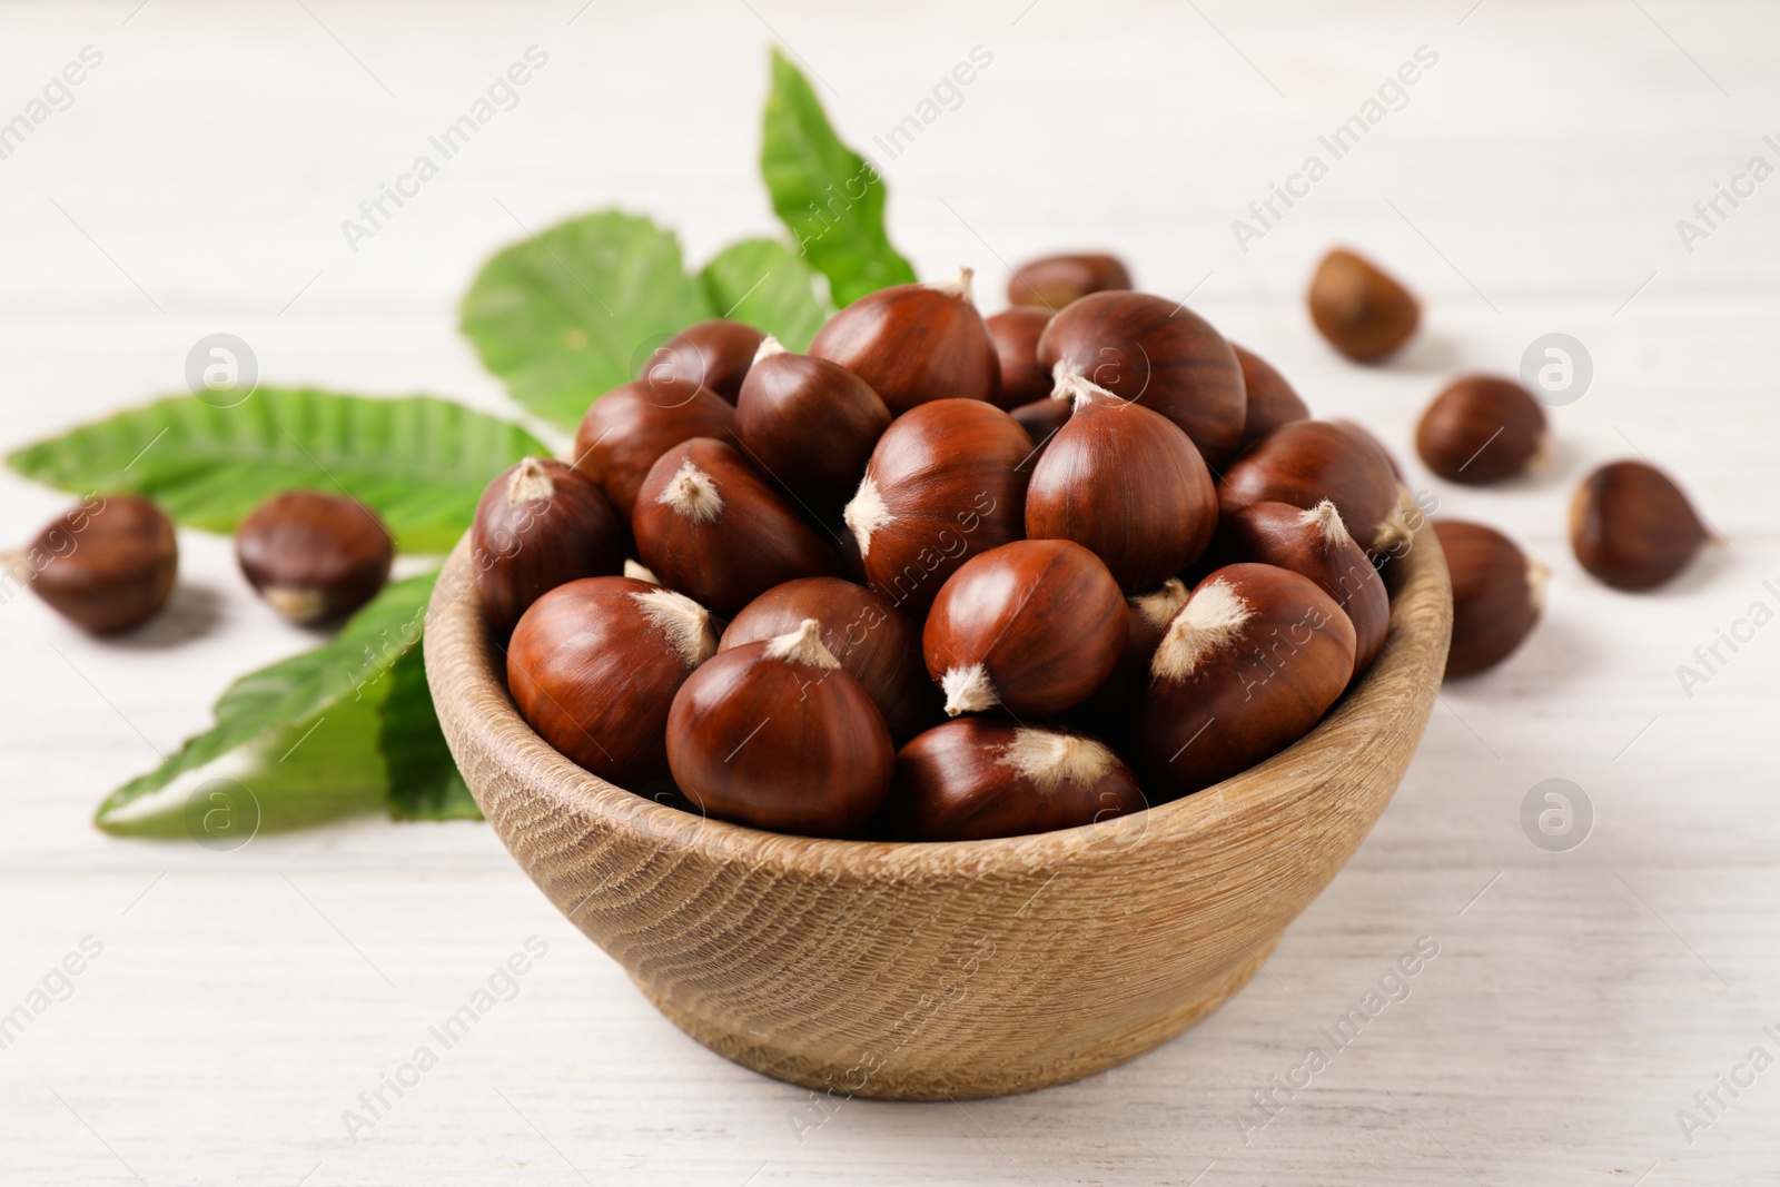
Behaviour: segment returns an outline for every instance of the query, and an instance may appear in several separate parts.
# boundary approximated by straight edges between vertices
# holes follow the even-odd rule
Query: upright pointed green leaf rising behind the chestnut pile
[[[760,174],[799,253],[828,276],[835,304],[915,279],[915,269],[885,233],[883,178],[840,142],[810,80],[778,50]]]

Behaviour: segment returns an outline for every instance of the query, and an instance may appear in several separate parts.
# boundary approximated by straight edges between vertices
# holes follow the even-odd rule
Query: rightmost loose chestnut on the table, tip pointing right
[[[1712,539],[1680,488],[1655,466],[1616,461],[1582,480],[1570,504],[1570,546],[1614,589],[1670,580]]]

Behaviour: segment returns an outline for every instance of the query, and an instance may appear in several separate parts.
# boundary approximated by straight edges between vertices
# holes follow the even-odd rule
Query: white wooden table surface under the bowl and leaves
[[[486,826],[365,817],[226,854],[94,831],[96,801],[205,726],[231,676],[308,646],[226,541],[185,532],[174,609],[142,635],[100,644],[34,598],[0,607],[0,1011],[84,938],[103,945],[0,1050],[0,1182],[1775,1182],[1780,1068],[1718,1087],[1711,1116],[1695,1093],[1746,1082],[1757,1046],[1780,1059],[1780,628],[1691,698],[1675,669],[1752,603],[1780,607],[1762,585],[1780,578],[1780,180],[1723,205],[1691,253],[1675,224],[1752,157],[1780,164],[1762,142],[1780,133],[1780,12],[135,4],[0,14],[0,117],[82,46],[103,53],[0,160],[4,447],[178,390],[215,331],[265,379],[502,408],[454,304],[516,221],[618,203],[701,260],[773,226],[755,157],[774,34],[874,153],[981,44],[993,64],[963,103],[885,164],[892,233],[924,274],[970,262],[993,308],[1006,262],[1112,247],[1554,580],[1524,653],[1442,694],[1372,838],[1221,1013],[1068,1087],[851,1102],[808,1130],[808,1093],[682,1038]],[[520,105],[349,251],[340,221],[530,44],[550,62]],[[1242,253],[1232,219],[1417,46],[1438,64],[1406,105]],[[1342,363],[1301,313],[1337,240],[1428,299],[1388,368]],[[1408,450],[1424,400],[1461,368],[1513,372],[1554,331],[1595,363],[1554,413],[1556,468],[1502,491],[1429,480]],[[1730,541],[1650,596],[1595,585],[1565,545],[1575,482],[1636,454]],[[64,504],[11,475],[0,491],[4,541]],[[1593,804],[1570,852],[1520,826],[1547,778]],[[386,1091],[354,1143],[342,1112],[529,936],[548,954],[514,1000]],[[1438,956],[1412,995],[1330,1046],[1319,1027],[1420,936]],[[1308,1046],[1330,1066],[1289,1102],[1274,1089],[1278,1116],[1244,1141],[1251,1094]],[[1684,1132],[1682,1109],[1703,1125]]]

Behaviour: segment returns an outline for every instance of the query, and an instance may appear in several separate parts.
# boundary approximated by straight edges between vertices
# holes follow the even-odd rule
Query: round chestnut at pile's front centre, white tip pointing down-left
[[[922,632],[945,712],[1057,714],[1118,664],[1125,596],[1100,557],[1068,539],[1020,539],[965,561]]]

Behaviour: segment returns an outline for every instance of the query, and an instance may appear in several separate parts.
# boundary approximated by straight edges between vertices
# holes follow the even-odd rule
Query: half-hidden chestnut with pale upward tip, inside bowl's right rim
[[[1287,504],[1253,504],[1226,514],[1218,525],[1225,555],[1237,562],[1274,564],[1301,573],[1335,600],[1353,623],[1353,674],[1358,676],[1385,650],[1390,634],[1390,594],[1365,550],[1353,543],[1340,511],[1326,498],[1310,511]]]

